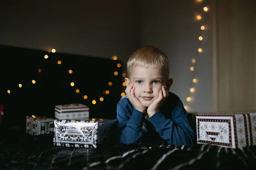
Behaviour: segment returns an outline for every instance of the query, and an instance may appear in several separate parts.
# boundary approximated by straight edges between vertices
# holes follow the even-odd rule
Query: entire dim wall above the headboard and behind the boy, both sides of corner
[[[206,1],[206,0],[204,0]],[[22,3],[21,3],[22,2]],[[210,111],[208,31],[198,41],[200,24],[193,20],[202,6],[195,0],[26,0],[0,1],[0,44],[111,58],[125,64],[140,45],[162,49],[170,59],[170,91],[190,112]],[[206,13],[204,13],[206,14]],[[209,23],[205,16],[204,23]],[[201,45],[200,45],[201,43]],[[191,59],[202,47],[193,101],[186,103],[193,78]]]

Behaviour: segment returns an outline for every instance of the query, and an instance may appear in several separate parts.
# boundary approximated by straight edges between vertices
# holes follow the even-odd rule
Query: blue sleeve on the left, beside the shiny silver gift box
[[[128,113],[122,105],[117,104],[117,127],[119,129],[119,143],[137,143],[142,137],[143,121],[145,113],[134,109],[133,113]]]

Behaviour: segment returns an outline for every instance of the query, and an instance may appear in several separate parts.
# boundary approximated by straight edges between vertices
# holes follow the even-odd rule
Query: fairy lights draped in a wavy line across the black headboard
[[[49,53],[55,53],[55,52],[56,52],[56,50],[55,50],[54,48],[49,49],[49,50],[48,50],[48,54],[45,54],[45,55],[44,55],[44,59],[48,59],[48,58],[49,58]],[[117,60],[117,57],[116,57],[116,56],[113,56],[112,59],[113,59],[113,60]],[[58,65],[62,64],[62,61],[61,61],[61,60],[58,60],[58,61],[57,61],[57,64],[58,64]],[[122,66],[121,63],[117,63],[117,65],[116,65],[117,68],[120,68],[121,66]],[[42,69],[41,69],[41,68],[38,68],[38,72],[41,73],[41,72],[42,72]],[[68,71],[68,73],[69,73],[69,74],[73,74],[73,70],[70,69],[70,70]],[[113,74],[114,74],[115,76],[117,76],[119,73],[118,73],[118,71],[115,71]],[[126,73],[122,73],[122,77],[126,77]],[[32,82],[32,84],[36,84],[36,80],[35,80],[35,79],[32,79],[31,82]],[[113,85],[113,82],[108,82],[108,86],[112,86],[112,85]],[[19,86],[19,88],[22,88],[22,84],[21,84],[21,83],[19,83],[18,86]],[[71,87],[74,87],[74,86],[75,86],[75,82],[70,82],[70,86],[71,86]],[[125,86],[125,82],[122,83],[122,86]],[[11,94],[11,90],[10,90],[10,89],[7,89],[7,93],[8,93],[8,94]],[[76,93],[77,93],[77,94],[80,93],[79,88],[76,88]],[[109,90],[105,90],[105,91],[102,92],[102,94],[103,94],[103,95],[108,95],[108,94],[110,94],[110,91],[109,91]],[[89,99],[89,96],[86,95],[86,94],[81,95],[81,96],[82,96],[82,98],[83,98],[84,100],[88,100],[88,99]],[[125,93],[124,93],[124,92],[121,93],[121,97],[122,97],[122,96],[125,96]],[[99,96],[98,98],[93,97],[93,98],[91,99],[91,102],[92,102],[93,105],[95,105],[95,104],[97,103],[97,101],[103,102],[103,101],[104,101],[104,97],[103,97],[103,96]]]

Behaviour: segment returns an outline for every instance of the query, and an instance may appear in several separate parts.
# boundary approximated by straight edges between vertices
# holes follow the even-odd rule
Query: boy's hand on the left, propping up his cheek
[[[140,112],[145,112],[146,108],[141,104],[140,100],[134,95],[135,87],[133,83],[129,83],[125,89],[125,93],[128,96],[131,104]]]

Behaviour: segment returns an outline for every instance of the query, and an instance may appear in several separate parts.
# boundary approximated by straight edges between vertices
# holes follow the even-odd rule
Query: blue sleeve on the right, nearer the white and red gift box
[[[148,121],[154,125],[157,133],[172,145],[193,144],[195,133],[187,119],[187,111],[182,102],[177,102],[175,108],[171,111],[171,119],[166,119],[163,113],[158,111],[151,116]]]

